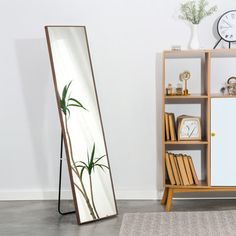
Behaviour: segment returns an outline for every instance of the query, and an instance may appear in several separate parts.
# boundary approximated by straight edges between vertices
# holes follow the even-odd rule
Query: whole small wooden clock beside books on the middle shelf
[[[182,115],[177,118],[178,140],[201,140],[201,118]]]

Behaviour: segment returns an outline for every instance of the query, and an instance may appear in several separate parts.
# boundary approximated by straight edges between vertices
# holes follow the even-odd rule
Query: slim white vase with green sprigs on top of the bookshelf
[[[212,15],[216,10],[217,6],[208,8],[207,0],[197,1],[187,1],[181,4],[180,6],[180,15],[179,18],[191,23],[192,27],[192,37],[190,40],[189,47],[190,49],[199,49],[199,37],[198,37],[198,26],[199,23],[207,16]]]

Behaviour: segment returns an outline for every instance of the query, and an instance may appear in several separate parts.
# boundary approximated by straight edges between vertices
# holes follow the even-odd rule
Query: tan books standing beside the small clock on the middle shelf
[[[176,126],[174,113],[165,113],[165,138],[166,141],[176,141]]]

